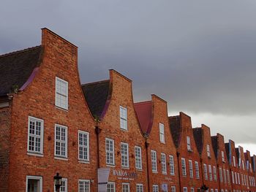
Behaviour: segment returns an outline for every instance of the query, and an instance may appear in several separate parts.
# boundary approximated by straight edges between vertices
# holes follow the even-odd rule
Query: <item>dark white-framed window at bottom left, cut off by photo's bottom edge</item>
[[[42,192],[42,177],[26,176],[26,192],[30,191]]]

